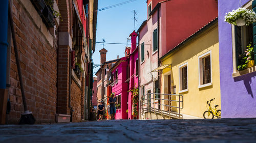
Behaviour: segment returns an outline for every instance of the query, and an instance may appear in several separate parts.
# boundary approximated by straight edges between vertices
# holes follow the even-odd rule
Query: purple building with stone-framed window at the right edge
[[[249,26],[234,26],[224,21],[226,13],[238,9],[239,2],[218,1],[222,118],[256,117],[256,66],[242,71],[237,69],[239,54],[246,50],[249,43],[254,45],[256,53],[256,23]],[[242,7],[254,8],[255,11],[256,1],[241,2]]]

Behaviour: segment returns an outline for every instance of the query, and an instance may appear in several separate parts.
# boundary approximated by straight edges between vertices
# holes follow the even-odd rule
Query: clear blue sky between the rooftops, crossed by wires
[[[126,2],[128,0],[98,0],[98,9]],[[136,22],[136,31],[144,20],[146,20],[146,0],[137,0],[114,8],[102,10],[98,12],[97,17],[97,32],[96,41],[110,43],[126,43],[126,38],[134,31],[134,14],[138,22]],[[119,55],[119,58],[124,56],[126,45],[105,44],[104,48],[108,50],[106,53],[106,61],[114,60]],[[131,42],[130,45],[131,46]],[[94,64],[100,64],[100,53],[102,44],[96,43],[96,49],[93,53]],[[94,74],[98,68],[94,69]]]

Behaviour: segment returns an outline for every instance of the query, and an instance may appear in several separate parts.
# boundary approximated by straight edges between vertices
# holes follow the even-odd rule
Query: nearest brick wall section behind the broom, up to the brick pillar
[[[30,1],[19,0],[13,1],[12,8],[28,109],[33,112],[36,123],[52,123],[56,113],[57,39],[52,36],[53,28],[46,28],[40,18],[34,19],[30,13],[31,9],[28,10],[25,6],[33,8]],[[33,15],[36,14],[35,10],[32,11]],[[53,41],[48,41],[49,38]],[[24,109],[13,44],[10,73],[12,108],[9,123],[16,124]]]

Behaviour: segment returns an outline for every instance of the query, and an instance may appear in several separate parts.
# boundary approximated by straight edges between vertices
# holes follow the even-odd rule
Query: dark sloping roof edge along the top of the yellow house
[[[190,35],[189,37],[187,37],[185,40],[183,40],[182,42],[180,42],[177,46],[175,46],[174,48],[170,49],[167,53],[165,53],[163,56],[161,56],[161,58],[159,59],[160,61],[163,60],[166,56],[168,56],[170,53],[173,53],[174,51],[178,50],[180,47],[182,47],[184,44],[186,44],[187,42],[189,42],[190,40],[194,39],[196,36],[198,36],[199,34],[201,34],[202,32],[204,32],[205,30],[207,30],[208,28],[210,28],[212,25],[218,23],[218,17],[216,17],[215,19],[211,20],[209,23],[207,23],[206,25],[204,25],[203,27],[201,27],[198,31],[196,31],[194,34]]]

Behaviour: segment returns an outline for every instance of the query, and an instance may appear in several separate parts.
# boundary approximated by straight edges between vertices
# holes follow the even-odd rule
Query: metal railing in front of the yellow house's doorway
[[[147,113],[153,112],[159,113],[161,116],[169,116],[169,119],[171,117],[182,119],[180,113],[182,108],[183,95],[180,94],[148,93],[142,95],[142,113],[146,116]]]

